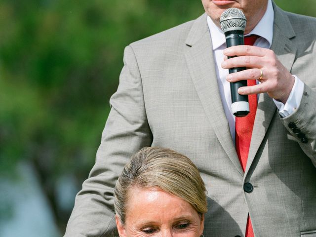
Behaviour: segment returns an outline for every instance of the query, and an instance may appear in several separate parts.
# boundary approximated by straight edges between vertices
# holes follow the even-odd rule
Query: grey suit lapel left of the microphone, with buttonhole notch
[[[188,69],[205,114],[227,156],[243,175],[219,94],[206,14],[196,20],[186,43],[190,46],[185,55]]]

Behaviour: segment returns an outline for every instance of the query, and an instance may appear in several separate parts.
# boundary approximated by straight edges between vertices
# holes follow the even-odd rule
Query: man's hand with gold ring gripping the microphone
[[[266,48],[250,45],[238,45],[226,48],[226,56],[239,56],[225,59],[222,68],[247,67],[247,70],[232,73],[227,76],[229,82],[246,79],[261,79],[261,83],[253,86],[244,86],[238,89],[241,95],[267,92],[268,95],[283,104],[286,103],[295,78],[278,61],[275,53]]]

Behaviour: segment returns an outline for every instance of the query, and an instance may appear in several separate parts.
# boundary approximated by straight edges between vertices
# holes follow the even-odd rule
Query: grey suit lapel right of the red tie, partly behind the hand
[[[288,71],[291,71],[297,47],[290,39],[295,37],[295,33],[285,13],[275,4],[273,4],[273,7],[275,11],[275,23],[271,49],[275,52],[278,60],[284,67]],[[275,113],[277,113],[276,105],[273,100],[266,93],[260,94],[245,170],[246,173],[258,152]]]

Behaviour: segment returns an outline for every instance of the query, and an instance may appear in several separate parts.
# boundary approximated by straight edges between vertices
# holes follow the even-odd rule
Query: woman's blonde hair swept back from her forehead
[[[125,223],[132,187],[159,188],[183,198],[199,214],[207,211],[206,189],[196,165],[170,149],[145,147],[124,166],[114,189],[114,207],[121,224]]]

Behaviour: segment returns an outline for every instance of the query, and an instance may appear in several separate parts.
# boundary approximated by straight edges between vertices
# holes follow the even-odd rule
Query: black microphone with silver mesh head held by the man
[[[227,47],[244,44],[243,33],[246,28],[246,22],[247,19],[245,15],[238,8],[228,8],[222,13],[220,24],[225,34]],[[245,69],[245,67],[231,68],[229,69],[229,73],[236,73]],[[236,117],[245,117],[249,114],[248,95],[240,95],[237,92],[238,88],[242,86],[247,86],[247,80],[230,82],[232,98],[231,110]]]

